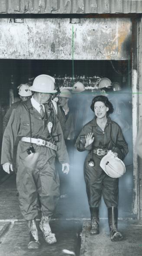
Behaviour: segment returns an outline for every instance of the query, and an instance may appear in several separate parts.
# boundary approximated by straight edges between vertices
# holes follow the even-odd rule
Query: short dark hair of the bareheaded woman
[[[94,111],[94,104],[97,102],[97,101],[101,101],[105,104],[106,107],[109,108],[109,110],[107,111],[106,115],[109,116],[109,114],[112,114],[113,111],[114,111],[114,108],[113,108],[113,105],[112,103],[109,101],[108,97],[106,96],[103,96],[103,95],[98,95],[96,96],[95,98],[92,99],[92,103],[91,103],[91,109],[93,112]]]

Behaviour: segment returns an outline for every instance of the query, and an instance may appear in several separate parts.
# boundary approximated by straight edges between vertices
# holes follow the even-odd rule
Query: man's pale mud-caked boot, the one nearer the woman
[[[51,232],[49,221],[50,221],[50,218],[47,216],[43,216],[42,214],[42,217],[40,220],[40,229],[43,232],[43,237],[45,241],[48,244],[54,244],[57,242],[57,240],[56,240],[55,234]]]

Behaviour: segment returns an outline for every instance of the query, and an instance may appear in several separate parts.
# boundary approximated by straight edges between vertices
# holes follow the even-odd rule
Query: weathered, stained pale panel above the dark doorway
[[[79,24],[57,18],[24,19],[23,23],[0,19],[0,58],[128,59],[131,28],[129,18],[81,19]]]

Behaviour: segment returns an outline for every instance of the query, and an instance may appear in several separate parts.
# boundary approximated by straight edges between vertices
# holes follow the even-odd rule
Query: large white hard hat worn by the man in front
[[[33,86],[30,86],[30,90],[38,93],[56,93],[55,79],[52,76],[40,75],[36,76],[33,81]]]

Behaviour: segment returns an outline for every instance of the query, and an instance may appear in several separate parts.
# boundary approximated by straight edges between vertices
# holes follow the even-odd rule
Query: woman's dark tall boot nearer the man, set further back
[[[99,207],[90,207],[92,228],[90,235],[99,234]]]

